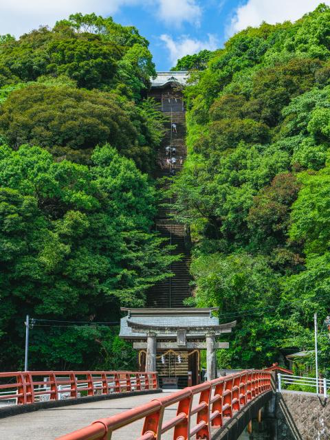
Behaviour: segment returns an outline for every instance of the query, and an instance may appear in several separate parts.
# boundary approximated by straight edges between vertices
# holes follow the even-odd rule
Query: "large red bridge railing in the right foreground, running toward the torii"
[[[96,420],[57,440],[111,439],[113,431],[140,419],[144,419],[144,426],[137,440],[160,440],[170,429],[173,429],[173,440],[186,440],[193,435],[196,439],[211,439],[212,427],[220,428],[234,413],[271,389],[271,373],[244,371],[184,388],[120,415]],[[199,397],[199,403],[193,406],[195,396]],[[165,408],[174,404],[177,404],[177,414],[164,423]]]

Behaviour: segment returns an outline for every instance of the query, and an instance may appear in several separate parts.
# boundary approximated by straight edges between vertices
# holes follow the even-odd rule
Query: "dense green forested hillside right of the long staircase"
[[[194,241],[190,305],[237,320],[219,364],[238,368],[314,349],[318,311],[329,369],[330,9],[248,28],[208,57],[190,59],[201,70],[173,186]]]

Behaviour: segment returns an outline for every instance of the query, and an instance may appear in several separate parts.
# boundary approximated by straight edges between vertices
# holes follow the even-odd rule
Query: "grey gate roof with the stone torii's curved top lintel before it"
[[[120,337],[145,339],[147,331],[157,331],[159,338],[177,338],[177,329],[192,331],[187,338],[205,338],[205,333],[231,331],[235,322],[219,325],[212,316],[217,309],[122,309],[127,316],[120,320]]]

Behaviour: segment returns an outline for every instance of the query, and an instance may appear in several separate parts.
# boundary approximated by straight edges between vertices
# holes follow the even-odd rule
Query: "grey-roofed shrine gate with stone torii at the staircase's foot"
[[[126,316],[120,322],[120,338],[133,342],[140,371],[157,371],[161,384],[175,378],[179,387],[187,386],[190,371],[192,384],[199,384],[200,351],[206,349],[207,377],[216,377],[216,350],[228,348],[228,342],[217,342],[216,338],[230,333],[236,321],[219,325],[219,319],[212,316],[217,308],[122,311]]]

